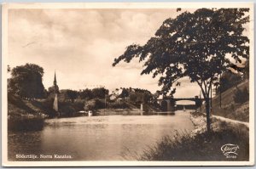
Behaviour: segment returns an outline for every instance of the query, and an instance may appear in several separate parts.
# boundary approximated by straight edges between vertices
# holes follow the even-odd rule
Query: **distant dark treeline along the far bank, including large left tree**
[[[62,89],[59,91],[56,86],[45,89],[43,84],[44,68],[39,65],[26,64],[8,67],[10,78],[8,79],[8,92],[20,96],[22,99],[53,99],[58,93],[59,101],[74,102],[74,100],[106,99],[113,102],[117,99],[126,99],[134,103],[148,102],[154,95],[148,90],[140,88],[116,88],[112,93],[105,87],[82,90]]]

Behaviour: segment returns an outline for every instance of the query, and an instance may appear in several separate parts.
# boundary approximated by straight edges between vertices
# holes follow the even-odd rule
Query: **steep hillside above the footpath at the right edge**
[[[248,80],[241,82],[237,85],[239,89],[247,87],[249,90]],[[219,95],[212,98],[212,115],[220,115],[226,118],[230,118],[236,121],[249,121],[249,101],[237,104],[234,101],[234,96],[236,93],[236,87],[231,87],[221,94],[222,106],[220,108]],[[202,107],[202,111],[205,112],[205,107]]]

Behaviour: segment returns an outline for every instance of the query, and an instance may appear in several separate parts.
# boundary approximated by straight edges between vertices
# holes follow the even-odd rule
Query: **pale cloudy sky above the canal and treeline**
[[[193,9],[189,9],[193,11]],[[183,12],[183,11],[181,11]],[[133,60],[112,66],[113,59],[132,43],[144,44],[173,9],[10,9],[9,65],[32,63],[44,68],[43,83],[60,89],[106,87],[160,90],[158,79],[143,75],[143,64]],[[175,97],[194,97],[196,84],[182,79]]]

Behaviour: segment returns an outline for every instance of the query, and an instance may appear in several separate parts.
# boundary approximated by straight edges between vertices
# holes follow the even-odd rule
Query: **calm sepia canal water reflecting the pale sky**
[[[42,131],[9,132],[9,160],[132,161],[160,138],[173,136],[176,130],[190,132],[193,128],[189,112],[184,111],[177,111],[176,115],[49,119],[44,121]],[[38,155],[38,158],[24,159],[17,155]],[[67,158],[56,159],[55,155],[66,155]]]

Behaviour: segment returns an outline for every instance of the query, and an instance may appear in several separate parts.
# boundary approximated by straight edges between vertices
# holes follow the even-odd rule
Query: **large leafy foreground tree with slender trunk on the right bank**
[[[160,76],[161,93],[173,91],[172,85],[184,76],[201,87],[207,110],[207,131],[210,131],[209,95],[212,83],[222,74],[230,57],[241,62],[248,59],[249,39],[242,35],[247,23],[248,8],[200,8],[194,13],[183,12],[169,18],[155,36],[141,46],[131,44],[125,53],[114,59],[129,63],[138,58],[144,62],[141,74]],[[174,87],[173,87],[174,88]]]

